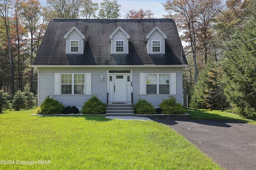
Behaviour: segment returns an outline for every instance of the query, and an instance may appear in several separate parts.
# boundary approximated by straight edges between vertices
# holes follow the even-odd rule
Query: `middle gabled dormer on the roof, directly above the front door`
[[[129,53],[130,35],[121,26],[117,27],[108,38],[111,43],[111,54]]]

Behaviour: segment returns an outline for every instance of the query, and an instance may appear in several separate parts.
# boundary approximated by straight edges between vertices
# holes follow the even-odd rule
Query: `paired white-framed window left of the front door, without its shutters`
[[[61,74],[61,94],[85,94],[85,74]]]

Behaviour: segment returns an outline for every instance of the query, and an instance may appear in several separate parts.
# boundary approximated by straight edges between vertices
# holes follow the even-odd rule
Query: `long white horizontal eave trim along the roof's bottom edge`
[[[31,65],[38,68],[185,68],[189,65]]]

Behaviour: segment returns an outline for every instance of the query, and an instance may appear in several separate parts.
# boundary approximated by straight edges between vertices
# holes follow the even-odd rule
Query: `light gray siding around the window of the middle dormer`
[[[116,41],[124,41],[124,52],[116,52]],[[128,39],[126,38],[126,35],[119,29],[114,35],[112,39],[112,54],[128,54]]]

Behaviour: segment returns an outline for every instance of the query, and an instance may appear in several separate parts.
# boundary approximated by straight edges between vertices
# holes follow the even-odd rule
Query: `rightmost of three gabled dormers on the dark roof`
[[[167,39],[167,35],[158,26],[154,27],[144,40],[148,54],[164,54],[165,39]]]

